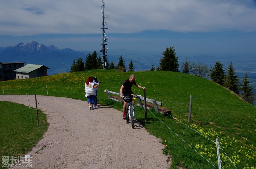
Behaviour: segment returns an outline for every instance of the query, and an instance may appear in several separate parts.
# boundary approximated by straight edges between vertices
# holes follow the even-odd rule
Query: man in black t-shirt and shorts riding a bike
[[[127,95],[133,95],[133,92],[132,92],[132,85],[135,85],[136,87],[138,88],[142,88],[142,89],[146,89],[145,87],[141,87],[140,85],[138,85],[136,82],[135,82],[135,75],[134,74],[131,74],[130,75],[130,78],[129,79],[126,79],[123,83],[123,85],[121,86],[120,88],[120,97],[121,98],[124,98],[125,96]],[[123,119],[125,119],[125,108],[126,108],[126,105],[127,105],[127,102],[124,102],[124,114],[123,114]]]

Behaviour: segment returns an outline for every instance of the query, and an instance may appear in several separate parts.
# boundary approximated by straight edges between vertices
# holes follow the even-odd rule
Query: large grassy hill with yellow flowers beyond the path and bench
[[[2,81],[0,86],[7,95],[34,95],[35,92],[37,95],[47,95],[47,85],[50,96],[86,100],[84,82],[89,76],[97,76],[101,81],[99,103],[122,110],[122,104],[108,100],[104,90],[119,93],[120,81],[127,79],[130,74],[131,72],[118,73],[116,70],[91,70]],[[164,153],[172,158],[172,168],[218,168],[215,138],[219,138],[221,147],[237,168],[255,168],[255,106],[242,101],[237,95],[212,81],[189,74],[166,71],[134,74],[136,82],[146,87],[147,97],[163,102],[163,107],[171,109],[172,116],[178,119],[157,114],[150,109],[148,120],[144,122],[144,110],[135,108],[136,119],[145,124],[148,132],[161,138],[163,144],[167,145]],[[133,87],[132,90],[135,94],[143,95],[140,88]],[[190,95],[193,95],[191,123],[188,122]],[[220,153],[223,154],[222,168],[235,168],[222,150]]]

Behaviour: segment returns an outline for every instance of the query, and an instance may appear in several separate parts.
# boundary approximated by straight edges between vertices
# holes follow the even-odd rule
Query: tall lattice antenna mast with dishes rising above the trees
[[[105,69],[106,66],[107,66],[107,62],[106,62],[107,61],[106,60],[107,55],[105,53],[108,52],[108,48],[105,48],[105,45],[107,45],[106,42],[108,42],[108,38],[106,37],[105,29],[108,29],[108,28],[105,28],[105,25],[106,25],[106,20],[109,17],[104,16],[104,6],[105,6],[104,0],[102,0],[102,6],[100,6],[101,7],[101,13],[102,13],[102,28],[101,28],[102,29],[102,44],[101,44],[102,49],[100,49],[101,56],[102,56],[102,69]],[[105,20],[105,18],[106,18],[106,20]]]

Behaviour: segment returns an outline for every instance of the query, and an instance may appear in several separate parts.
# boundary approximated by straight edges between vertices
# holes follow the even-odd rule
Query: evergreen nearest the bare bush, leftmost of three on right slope
[[[224,77],[225,77],[223,64],[220,63],[219,61],[216,61],[216,63],[214,64],[214,67],[211,67],[211,68],[212,69],[210,69],[210,74],[209,74],[210,78],[212,79],[212,81],[222,86],[224,84]]]

